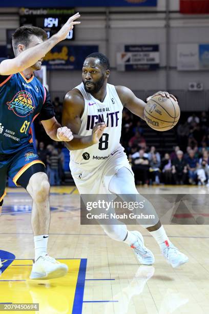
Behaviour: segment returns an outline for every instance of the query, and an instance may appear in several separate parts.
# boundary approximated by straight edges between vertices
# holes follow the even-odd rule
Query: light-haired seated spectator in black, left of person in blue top
[[[175,184],[185,184],[187,179],[187,164],[183,152],[177,151],[177,158],[172,161],[172,174]]]

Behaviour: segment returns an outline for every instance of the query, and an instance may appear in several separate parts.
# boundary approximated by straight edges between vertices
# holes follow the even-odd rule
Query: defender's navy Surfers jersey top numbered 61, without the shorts
[[[4,59],[0,59],[0,62]],[[32,75],[0,75],[0,154],[17,153],[32,143],[31,124],[54,116],[46,88]]]

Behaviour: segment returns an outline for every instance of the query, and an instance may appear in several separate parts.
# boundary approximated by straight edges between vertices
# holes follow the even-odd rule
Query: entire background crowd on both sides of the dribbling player
[[[56,119],[61,123],[62,104],[54,99]],[[185,115],[186,116],[186,115]],[[206,112],[187,115],[175,130],[176,146],[172,152],[159,153],[149,147],[144,136],[144,124],[124,109],[121,145],[124,147],[135,174],[136,184],[191,184],[209,186],[209,127]],[[60,142],[51,141],[43,132],[40,122],[36,125],[37,153],[46,164],[50,184],[65,183],[64,154]],[[43,136],[43,134],[45,134]],[[156,138],[156,143],[158,138]]]

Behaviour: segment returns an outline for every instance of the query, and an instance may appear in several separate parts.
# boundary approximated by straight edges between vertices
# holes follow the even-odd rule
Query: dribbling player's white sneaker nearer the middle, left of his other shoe
[[[138,262],[142,265],[152,265],[155,262],[155,258],[151,250],[144,246],[142,234],[139,231],[130,231],[136,235],[137,241],[131,245],[134,249],[134,253]]]

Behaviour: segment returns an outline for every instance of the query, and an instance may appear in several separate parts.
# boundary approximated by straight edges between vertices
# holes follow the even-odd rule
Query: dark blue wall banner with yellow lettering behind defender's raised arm
[[[97,51],[98,46],[57,45],[46,54],[43,65],[47,70],[81,70],[86,56]]]

